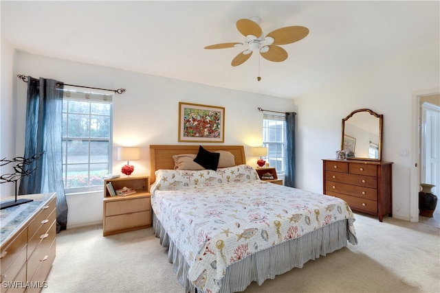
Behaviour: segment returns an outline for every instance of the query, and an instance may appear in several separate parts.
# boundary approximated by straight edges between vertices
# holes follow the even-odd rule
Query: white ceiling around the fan
[[[1,38],[31,54],[295,98],[439,40],[439,11],[439,1],[1,1]],[[252,16],[265,34],[310,32],[281,46],[284,62],[253,54],[232,67],[243,49],[203,49],[243,42],[235,23]]]

